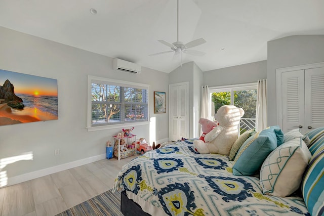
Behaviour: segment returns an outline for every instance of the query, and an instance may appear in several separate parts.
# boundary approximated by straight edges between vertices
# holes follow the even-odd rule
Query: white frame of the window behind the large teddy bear
[[[222,85],[218,87],[209,87],[208,89],[208,97],[209,97],[209,116],[210,119],[214,119],[214,115],[211,109],[212,106],[212,94],[214,92],[230,92],[231,93],[231,104],[234,104],[234,91],[240,91],[240,90],[251,90],[251,89],[257,90],[258,89],[258,82],[251,82],[251,83],[244,83],[244,84],[232,84],[232,85]]]

